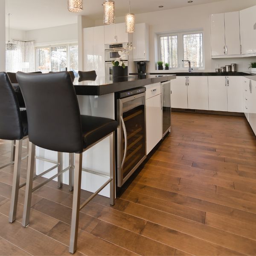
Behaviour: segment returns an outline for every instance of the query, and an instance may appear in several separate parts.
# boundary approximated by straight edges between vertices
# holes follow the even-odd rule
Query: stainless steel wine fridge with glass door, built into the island
[[[118,93],[116,99],[117,186],[146,158],[145,87]]]

